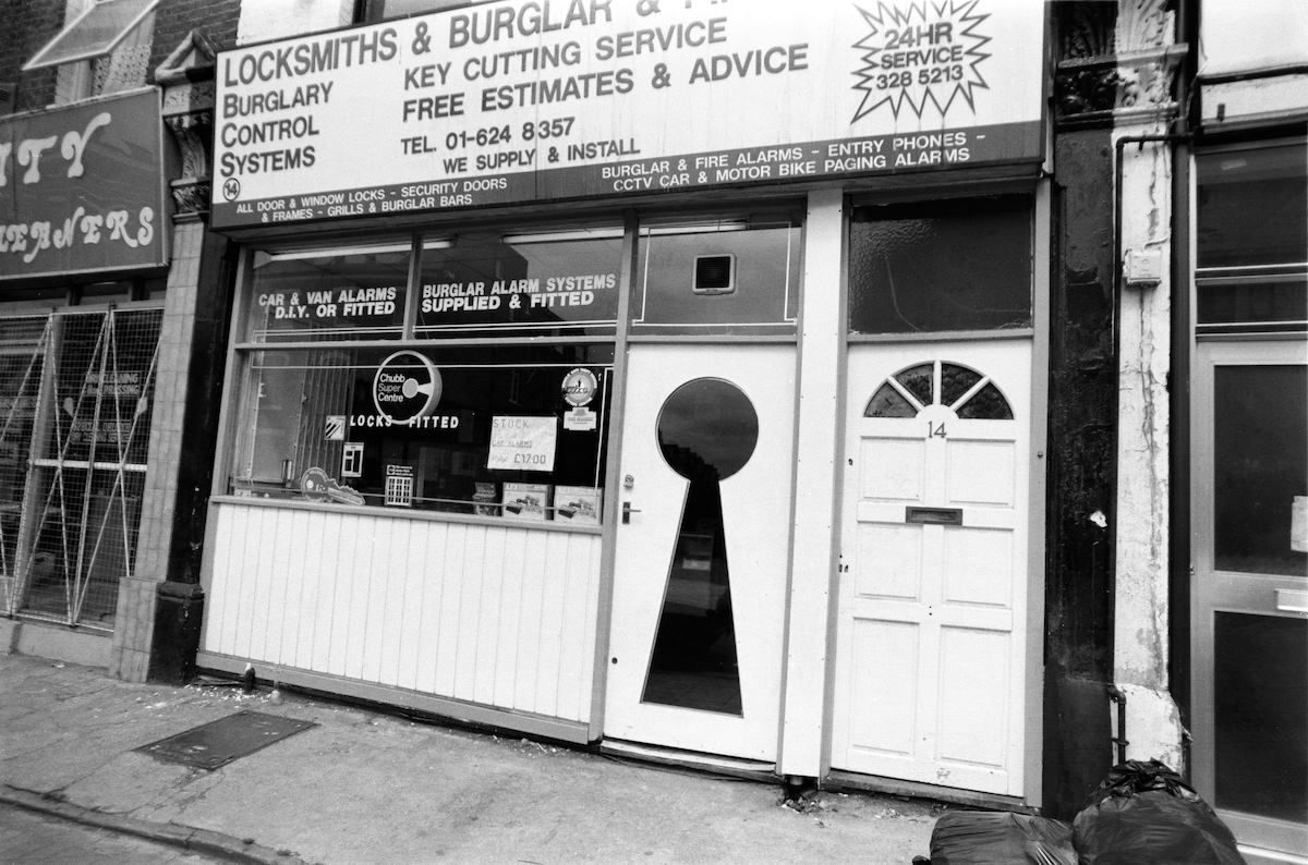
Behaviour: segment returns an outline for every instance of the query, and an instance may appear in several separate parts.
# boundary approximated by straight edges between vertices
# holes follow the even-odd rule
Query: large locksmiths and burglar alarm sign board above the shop
[[[1033,161],[1041,0],[501,0],[220,54],[213,223]]]

